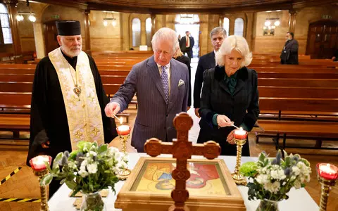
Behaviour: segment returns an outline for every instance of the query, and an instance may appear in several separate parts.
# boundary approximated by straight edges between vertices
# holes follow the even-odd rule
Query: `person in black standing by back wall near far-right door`
[[[294,39],[294,33],[287,32],[282,53],[280,54],[280,63],[283,65],[298,65],[298,41]]]

